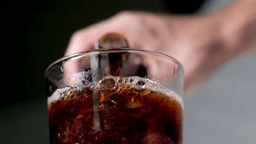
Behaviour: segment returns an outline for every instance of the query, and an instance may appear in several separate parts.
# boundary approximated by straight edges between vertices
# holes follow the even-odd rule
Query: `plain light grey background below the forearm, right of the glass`
[[[232,62],[184,99],[184,143],[256,142],[256,56]]]

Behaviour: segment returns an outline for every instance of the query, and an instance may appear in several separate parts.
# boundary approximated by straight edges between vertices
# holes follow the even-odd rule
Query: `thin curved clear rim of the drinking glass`
[[[56,59],[53,63],[49,64],[48,67],[45,69],[44,78],[46,78],[46,75],[48,74],[48,71],[50,70],[50,68],[54,67],[54,65],[56,65],[57,63],[59,63],[61,61],[65,61],[69,58],[82,56],[82,55],[89,54],[89,53],[92,53],[92,52],[104,52],[104,51],[113,51],[113,50],[124,51],[124,52],[125,51],[149,52],[149,53],[153,53],[153,54],[159,54],[159,55],[164,56],[166,58],[170,58],[173,62],[177,63],[179,68],[182,70],[182,73],[184,74],[184,67],[181,64],[181,62],[179,62],[176,58],[173,58],[172,56],[166,55],[165,53],[152,51],[152,50],[136,49],[136,48],[104,48],[104,49],[93,49],[93,50],[87,50],[87,51],[82,51],[82,52],[76,52],[76,53],[73,53],[71,55],[63,56],[59,59]]]

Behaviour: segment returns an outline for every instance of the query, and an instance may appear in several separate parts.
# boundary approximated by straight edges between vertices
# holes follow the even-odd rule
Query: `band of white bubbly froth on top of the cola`
[[[142,77],[138,77],[138,76],[131,76],[131,77],[125,77],[125,78],[121,78],[118,76],[117,77],[105,76],[102,80],[96,81],[94,83],[91,83],[91,85],[86,85],[86,86],[100,88],[99,83],[105,79],[113,79],[115,81],[115,86],[129,85],[130,87],[136,88],[136,89],[150,89],[151,91],[162,93],[164,95],[167,95],[168,97],[173,97],[174,99],[176,99],[176,101],[178,101],[179,104],[181,104],[182,108],[184,107],[181,96],[179,96],[172,89],[165,88],[158,82],[145,79]],[[50,105],[54,101],[60,100],[63,97],[71,96],[74,91],[79,91],[80,89],[81,88],[71,88],[71,87],[56,89],[56,91],[50,97],[48,97],[48,105]]]

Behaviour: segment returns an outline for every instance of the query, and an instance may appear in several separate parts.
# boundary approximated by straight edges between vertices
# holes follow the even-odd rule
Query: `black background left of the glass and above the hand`
[[[2,91],[7,94],[1,95],[1,143],[49,143],[44,70],[63,56],[72,33],[123,10],[194,13],[201,3],[112,0],[3,4]]]

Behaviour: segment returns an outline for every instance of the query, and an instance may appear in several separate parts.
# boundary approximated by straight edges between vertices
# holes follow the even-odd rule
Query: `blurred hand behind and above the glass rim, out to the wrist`
[[[170,16],[125,11],[75,32],[65,55],[94,49],[94,44],[102,35],[118,32],[125,35],[132,48],[165,53],[181,62],[184,67],[184,92],[188,95],[235,57],[238,51],[232,52],[230,47],[243,45],[238,40],[238,34],[233,37],[237,27],[243,25],[223,27],[220,21],[223,16],[220,15]]]

